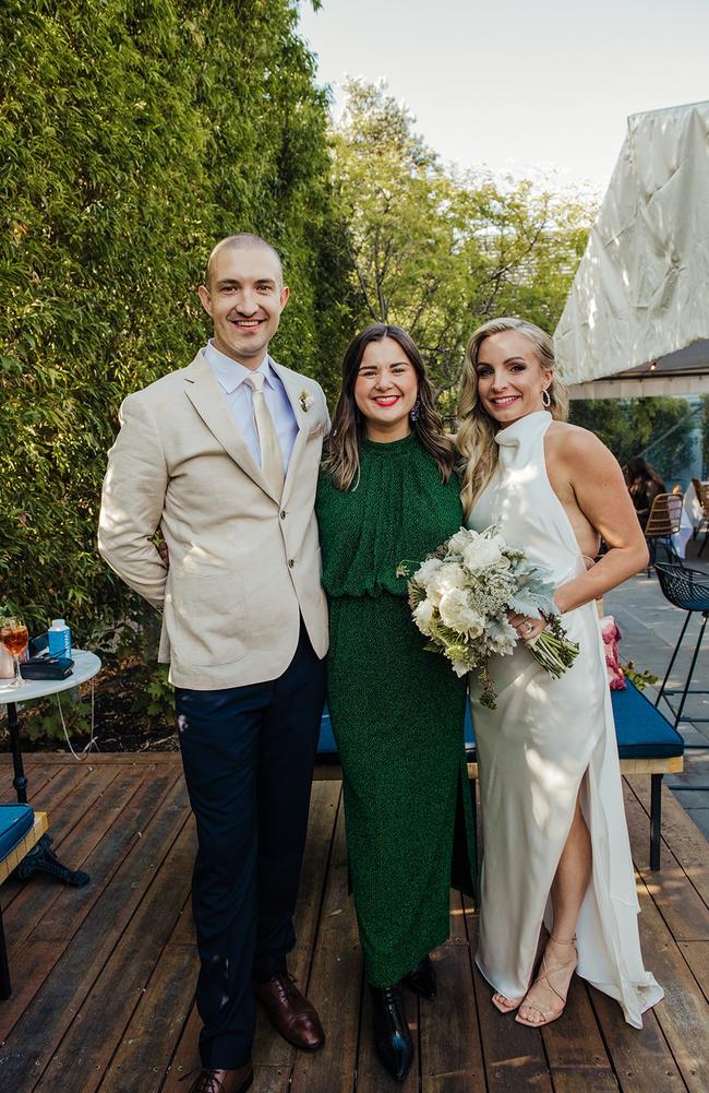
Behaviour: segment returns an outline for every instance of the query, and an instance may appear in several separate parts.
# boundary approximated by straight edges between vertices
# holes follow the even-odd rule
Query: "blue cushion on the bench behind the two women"
[[[621,759],[670,759],[672,755],[684,754],[684,741],[677,730],[629,680],[627,684],[625,691],[611,692]],[[469,762],[473,763],[475,731],[468,704],[465,704],[465,751]],[[338,749],[327,707],[320,727],[318,762],[338,762]]]

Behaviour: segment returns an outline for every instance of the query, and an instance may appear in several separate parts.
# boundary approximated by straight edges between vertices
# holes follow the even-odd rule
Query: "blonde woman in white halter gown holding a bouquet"
[[[468,524],[499,525],[551,567],[556,604],[580,653],[555,680],[524,647],[543,621],[513,615],[522,640],[496,657],[497,708],[471,685],[485,834],[477,965],[501,1012],[558,1018],[577,969],[626,1021],[662,998],[645,971],[605,659],[594,601],[637,573],[647,549],[621,468],[564,423],[550,337],[494,319],[468,346],[458,443]],[[600,536],[608,551],[596,565]],[[542,924],[548,930],[532,982]],[[577,968],[578,965],[578,968]]]

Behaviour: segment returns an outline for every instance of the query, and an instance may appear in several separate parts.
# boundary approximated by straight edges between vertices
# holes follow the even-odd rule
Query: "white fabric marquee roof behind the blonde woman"
[[[628,118],[554,340],[572,398],[709,392],[709,102]]]

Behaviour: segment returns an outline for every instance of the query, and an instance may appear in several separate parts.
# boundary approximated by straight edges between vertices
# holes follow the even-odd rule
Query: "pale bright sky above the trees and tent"
[[[630,114],[709,98],[709,0],[300,0],[318,82],[386,78],[445,161],[602,195]]]

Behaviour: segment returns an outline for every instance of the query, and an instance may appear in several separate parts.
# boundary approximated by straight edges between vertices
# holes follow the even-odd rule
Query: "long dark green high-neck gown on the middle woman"
[[[385,987],[448,938],[454,835],[459,886],[473,885],[466,681],[424,650],[395,575],[458,531],[459,482],[441,482],[415,433],[363,439],[354,487],[321,473],[316,510],[359,939],[367,979]]]

